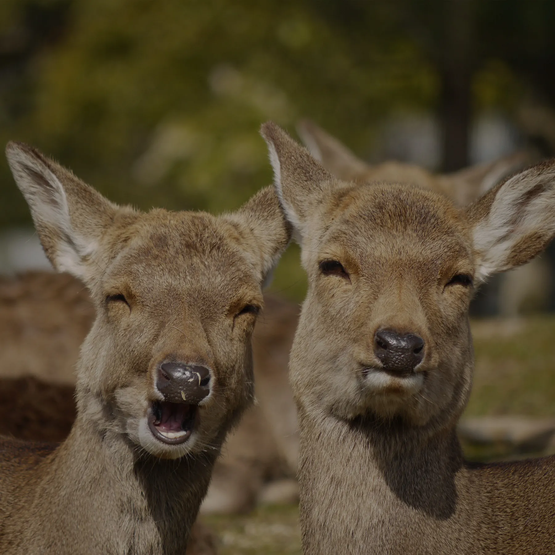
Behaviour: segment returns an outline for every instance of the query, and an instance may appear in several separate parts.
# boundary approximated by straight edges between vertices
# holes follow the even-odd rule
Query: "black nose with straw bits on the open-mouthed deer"
[[[158,369],[158,391],[170,403],[199,403],[210,393],[210,370],[206,366],[164,362]]]

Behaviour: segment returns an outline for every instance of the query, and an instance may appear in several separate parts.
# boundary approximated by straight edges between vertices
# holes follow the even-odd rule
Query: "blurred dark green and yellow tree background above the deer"
[[[2,0],[0,142],[121,203],[216,212],[270,183],[267,119],[437,171],[551,155],[554,21],[542,0]],[[46,266],[3,157],[0,179],[3,270]],[[273,287],[302,298],[294,249]]]

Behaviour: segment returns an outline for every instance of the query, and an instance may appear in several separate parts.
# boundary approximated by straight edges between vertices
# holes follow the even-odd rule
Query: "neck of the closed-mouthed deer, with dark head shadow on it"
[[[442,553],[445,534],[464,546],[465,470],[454,426],[423,436],[396,422],[302,410],[299,425],[305,553]]]

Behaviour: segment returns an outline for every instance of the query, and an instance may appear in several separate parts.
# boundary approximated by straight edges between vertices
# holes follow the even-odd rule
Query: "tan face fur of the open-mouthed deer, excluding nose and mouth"
[[[114,425],[141,443],[139,421],[148,400],[156,398],[160,361],[208,366],[214,382],[201,406],[202,448],[220,433],[226,415],[252,396],[246,345],[254,319],[235,315],[245,304],[261,305],[263,276],[245,260],[234,228],[225,220],[157,210],[135,229],[94,285],[98,318],[83,345],[92,362],[80,372],[78,390],[114,402],[120,422]],[[105,298],[116,292],[123,292],[131,310],[122,303],[107,306]],[[132,357],[126,352],[130,343]],[[138,399],[144,399],[139,412]]]

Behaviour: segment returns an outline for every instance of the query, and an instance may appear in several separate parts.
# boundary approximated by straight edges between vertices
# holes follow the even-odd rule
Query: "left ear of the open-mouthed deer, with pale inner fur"
[[[87,261],[117,206],[25,144],[8,143],[6,157],[51,264],[87,281]]]

